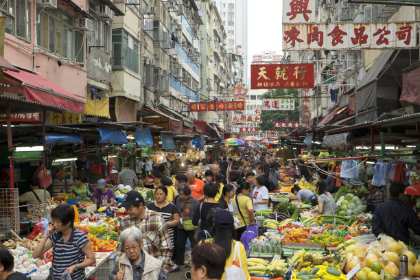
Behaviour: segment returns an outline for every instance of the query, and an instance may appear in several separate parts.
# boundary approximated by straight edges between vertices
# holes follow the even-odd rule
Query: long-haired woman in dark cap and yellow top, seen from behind
[[[235,265],[237,266],[242,264],[242,270],[244,270],[246,280],[250,280],[246,251],[244,245],[235,240],[235,227],[233,226],[233,215],[231,212],[219,210],[215,213],[213,219],[213,237],[204,242],[218,244],[222,247],[226,253],[226,265],[224,268],[229,268],[233,264],[233,261],[235,261]],[[236,256],[233,256],[236,242],[239,242],[240,251]],[[221,280],[224,280],[224,274]]]

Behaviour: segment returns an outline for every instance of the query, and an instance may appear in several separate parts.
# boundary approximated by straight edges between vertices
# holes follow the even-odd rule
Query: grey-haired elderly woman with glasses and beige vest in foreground
[[[110,280],[166,280],[163,262],[143,250],[143,233],[137,227],[125,229],[119,237],[124,254],[119,257]],[[121,265],[121,270],[119,270]]]

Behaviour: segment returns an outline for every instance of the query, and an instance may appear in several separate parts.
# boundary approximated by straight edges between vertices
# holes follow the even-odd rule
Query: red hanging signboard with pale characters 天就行
[[[251,89],[312,89],[314,64],[251,65]]]

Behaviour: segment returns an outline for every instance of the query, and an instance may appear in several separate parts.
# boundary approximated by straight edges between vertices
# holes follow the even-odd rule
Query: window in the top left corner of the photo
[[[5,32],[27,42],[31,41],[31,3],[27,0],[5,0],[0,10],[6,16]]]

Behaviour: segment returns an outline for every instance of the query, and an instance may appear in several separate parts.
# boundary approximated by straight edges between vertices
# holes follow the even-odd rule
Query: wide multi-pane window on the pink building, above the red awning
[[[36,24],[36,44],[49,49],[54,54],[84,62],[84,32],[73,30],[73,18],[62,10],[37,9],[40,22]]]

